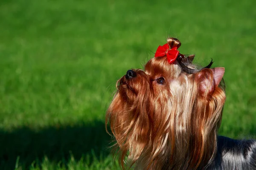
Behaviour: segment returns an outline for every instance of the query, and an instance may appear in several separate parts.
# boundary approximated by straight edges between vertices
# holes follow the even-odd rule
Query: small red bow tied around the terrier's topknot
[[[177,51],[177,47],[170,49],[169,45],[166,43],[165,45],[159,45],[157,51],[155,53],[155,57],[164,57],[167,56],[168,62],[171,64],[178,57],[180,51]]]

